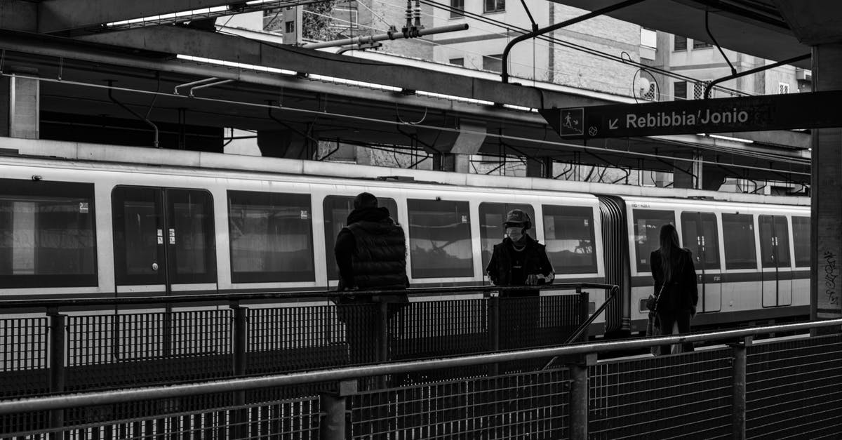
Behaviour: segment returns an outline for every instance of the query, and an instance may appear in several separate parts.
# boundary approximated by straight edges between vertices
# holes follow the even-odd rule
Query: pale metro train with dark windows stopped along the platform
[[[0,158],[3,299],[331,289],[333,241],[354,196],[368,191],[407,233],[413,287],[488,284],[505,213],[520,208],[556,283],[621,287],[593,335],[645,329],[648,257],[663,223],[695,257],[694,325],[809,310],[805,197],[9,141],[17,153]],[[592,309],[605,301],[590,294]]]

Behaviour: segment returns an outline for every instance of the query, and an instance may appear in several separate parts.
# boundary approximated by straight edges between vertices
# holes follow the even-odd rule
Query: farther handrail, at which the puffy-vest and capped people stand
[[[393,290],[355,290],[355,291],[295,291],[295,292],[261,292],[261,293],[207,293],[199,295],[170,295],[164,297],[125,297],[125,298],[67,298],[67,299],[13,299],[0,301],[0,309],[55,309],[61,307],[129,305],[129,304],[172,304],[172,303],[200,303],[213,302],[237,303],[239,301],[259,301],[270,299],[295,298],[324,298],[326,300],[340,297],[373,297],[408,294],[449,294],[466,295],[477,292],[522,292],[525,290],[567,290],[576,288],[610,289],[613,284],[593,282],[565,282],[557,284],[542,284],[540,286],[460,286],[460,287],[413,287]]]

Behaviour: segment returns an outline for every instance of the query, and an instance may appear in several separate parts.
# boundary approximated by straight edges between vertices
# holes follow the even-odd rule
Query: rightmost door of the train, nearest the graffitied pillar
[[[759,216],[763,307],[791,305],[789,230],[784,216]]]

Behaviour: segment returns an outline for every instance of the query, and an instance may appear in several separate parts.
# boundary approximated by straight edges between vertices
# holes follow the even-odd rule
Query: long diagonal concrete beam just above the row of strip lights
[[[213,34],[177,26],[154,26],[108,34],[86,35],[79,38],[113,46],[317,73],[365,83],[378,83],[409,90],[434,91],[439,94],[525,107],[536,108],[540,107],[542,102],[554,104],[557,101],[570,102],[571,100],[568,94],[545,93],[545,100],[541,101],[539,91],[520,85],[463,77],[419,67],[357,59],[294,46],[272,45],[237,36]]]

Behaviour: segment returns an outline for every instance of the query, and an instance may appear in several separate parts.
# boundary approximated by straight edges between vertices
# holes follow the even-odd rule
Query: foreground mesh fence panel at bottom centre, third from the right
[[[351,398],[351,437],[568,437],[567,370],[446,381]]]

